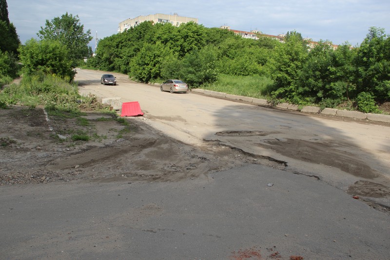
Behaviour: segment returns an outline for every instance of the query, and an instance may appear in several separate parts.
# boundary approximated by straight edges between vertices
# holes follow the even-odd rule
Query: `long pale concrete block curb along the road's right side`
[[[208,96],[216,97],[216,98],[226,98],[226,99],[230,99],[230,100],[250,102],[250,103],[253,103],[255,105],[272,106],[272,103],[269,102],[268,100],[231,95],[231,94],[226,94],[226,93],[217,92],[217,91],[195,88],[195,89],[191,89],[191,92],[200,93],[200,94],[204,94],[204,95],[208,95]],[[316,106],[304,106],[301,109],[299,109],[298,105],[289,104],[289,103],[278,103],[278,104],[273,105],[273,106],[280,108],[280,109],[300,111],[300,112],[304,112],[304,113],[313,113],[313,114],[321,114],[321,115],[328,115],[328,116],[335,116],[335,117],[345,117],[345,118],[353,118],[353,119],[362,119],[362,120],[390,123],[390,116],[389,115],[362,113],[359,111],[350,111],[350,110],[335,109],[335,108],[324,108],[323,110],[321,110],[319,107],[316,107]]]

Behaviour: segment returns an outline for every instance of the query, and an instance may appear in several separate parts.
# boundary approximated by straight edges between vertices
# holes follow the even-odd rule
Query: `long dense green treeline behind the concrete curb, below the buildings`
[[[360,46],[347,42],[333,50],[328,41],[309,49],[297,32],[288,32],[281,43],[193,22],[175,27],[146,21],[99,40],[88,65],[141,82],[179,78],[204,88],[223,75],[260,75],[273,82],[259,87],[260,95],[302,105],[350,101],[361,111],[377,112],[378,103],[390,101],[390,39],[376,27]]]

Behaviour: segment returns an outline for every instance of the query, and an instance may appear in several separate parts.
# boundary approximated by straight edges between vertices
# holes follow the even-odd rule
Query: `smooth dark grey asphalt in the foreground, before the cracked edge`
[[[315,178],[259,165],[207,180],[6,186],[0,201],[1,259],[390,255],[389,215]]]

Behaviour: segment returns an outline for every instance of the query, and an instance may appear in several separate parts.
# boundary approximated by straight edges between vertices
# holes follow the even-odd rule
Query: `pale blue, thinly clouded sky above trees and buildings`
[[[314,41],[360,45],[370,27],[390,32],[389,0],[7,0],[8,17],[21,43],[38,39],[46,20],[78,15],[95,38],[117,34],[118,23],[140,15],[174,14],[197,18],[205,27],[230,26],[279,35],[301,33]]]

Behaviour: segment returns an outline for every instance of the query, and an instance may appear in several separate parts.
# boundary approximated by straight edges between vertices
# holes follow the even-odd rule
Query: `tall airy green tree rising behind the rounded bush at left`
[[[64,44],[69,52],[68,58],[75,67],[79,60],[88,56],[88,43],[93,39],[91,30],[84,32],[84,25],[80,23],[78,15],[64,14],[53,20],[46,20],[45,27],[40,27],[37,33],[41,40],[58,40]]]

